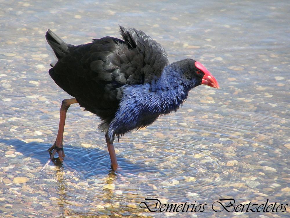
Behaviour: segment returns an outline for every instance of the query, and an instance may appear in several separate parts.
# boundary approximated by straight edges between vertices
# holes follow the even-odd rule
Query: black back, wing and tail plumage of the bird
[[[169,64],[166,52],[151,37],[135,28],[119,27],[123,40],[107,36],[78,46],[65,43],[50,30],[46,33],[59,59],[50,76],[81,107],[103,120],[102,131],[114,118],[124,88],[151,83]]]

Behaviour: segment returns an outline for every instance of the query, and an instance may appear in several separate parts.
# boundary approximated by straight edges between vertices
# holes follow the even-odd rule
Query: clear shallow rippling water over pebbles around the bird
[[[0,217],[287,217],[215,212],[219,199],[290,204],[288,1],[0,1]],[[115,143],[112,172],[99,119],[69,109],[63,165],[46,151],[69,95],[50,78],[50,28],[71,44],[146,32],[171,62],[193,58],[220,89],[199,86],[176,113]],[[18,177],[22,178],[21,182]],[[148,212],[207,204],[200,212]],[[216,210],[216,205],[214,207]]]

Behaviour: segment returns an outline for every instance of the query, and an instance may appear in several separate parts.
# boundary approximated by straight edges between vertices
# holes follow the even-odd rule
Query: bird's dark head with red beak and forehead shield
[[[179,65],[184,81],[189,82],[191,88],[202,84],[219,88],[218,81],[200,62],[185,59],[175,63]]]

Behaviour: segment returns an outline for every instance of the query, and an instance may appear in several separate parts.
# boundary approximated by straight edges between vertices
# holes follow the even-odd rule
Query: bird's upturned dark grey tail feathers
[[[68,53],[68,47],[70,44],[64,42],[50,29],[48,29],[46,32],[45,38],[58,59],[62,58],[66,55],[66,53]]]

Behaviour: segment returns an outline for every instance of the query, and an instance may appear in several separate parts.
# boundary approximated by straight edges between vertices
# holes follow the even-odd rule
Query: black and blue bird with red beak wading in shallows
[[[78,103],[100,118],[111,160],[118,162],[114,140],[125,133],[152,124],[160,115],[175,112],[198,85],[219,88],[215,77],[200,62],[184,59],[170,63],[164,48],[143,31],[119,25],[121,39],[102,37],[91,43],[72,45],[50,29],[46,40],[57,57],[48,73],[73,98],[60,108],[55,143],[50,159],[58,153],[63,162],[63,133],[66,112]]]

